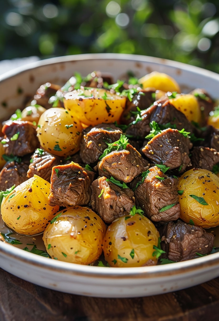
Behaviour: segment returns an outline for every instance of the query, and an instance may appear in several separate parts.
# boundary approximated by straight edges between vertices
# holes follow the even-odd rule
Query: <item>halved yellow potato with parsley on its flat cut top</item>
[[[126,98],[105,89],[79,89],[64,94],[64,107],[85,125],[113,123],[126,105]]]

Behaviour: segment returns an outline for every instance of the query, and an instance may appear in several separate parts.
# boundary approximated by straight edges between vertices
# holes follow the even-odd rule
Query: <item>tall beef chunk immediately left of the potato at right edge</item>
[[[131,188],[134,189],[136,204],[148,218],[164,223],[175,221],[180,215],[177,183],[176,178],[166,176],[157,166],[153,166],[140,178],[135,178]]]

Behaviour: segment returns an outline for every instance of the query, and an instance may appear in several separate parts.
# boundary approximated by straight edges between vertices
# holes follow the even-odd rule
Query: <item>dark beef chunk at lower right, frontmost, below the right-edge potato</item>
[[[180,220],[165,224],[159,230],[161,248],[169,260],[174,262],[193,259],[199,254],[209,254],[213,248],[214,235],[201,227]]]

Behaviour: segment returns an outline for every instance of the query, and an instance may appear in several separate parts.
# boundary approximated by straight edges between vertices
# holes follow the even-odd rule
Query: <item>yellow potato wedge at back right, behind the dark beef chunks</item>
[[[198,100],[194,95],[182,94],[172,98],[169,102],[174,105],[176,109],[181,111],[189,121],[199,123],[201,120],[201,110]]]

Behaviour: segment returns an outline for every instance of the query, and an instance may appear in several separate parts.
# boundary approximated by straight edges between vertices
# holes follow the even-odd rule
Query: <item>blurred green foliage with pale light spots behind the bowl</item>
[[[117,52],[219,72],[219,1],[4,0],[0,59]]]

